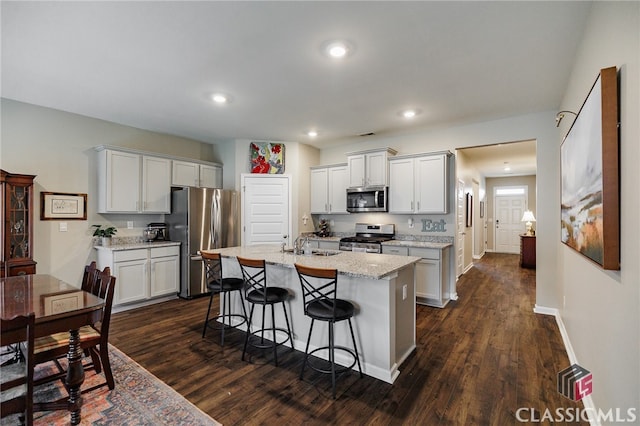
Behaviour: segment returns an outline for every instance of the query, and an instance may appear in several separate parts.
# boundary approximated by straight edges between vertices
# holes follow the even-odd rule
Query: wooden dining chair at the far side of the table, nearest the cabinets
[[[90,266],[90,265],[89,265]],[[89,268],[87,266],[87,268]],[[88,271],[90,273],[90,270]],[[104,371],[105,382],[99,383],[82,392],[89,392],[104,385],[109,389],[115,387],[113,372],[109,362],[109,323],[111,322],[111,307],[113,305],[113,294],[115,291],[116,277],[111,275],[109,267],[103,271],[97,271],[95,279],[89,276],[86,283],[83,280],[83,290],[104,299],[101,321],[96,324],[81,327],[79,331],[80,346],[84,354],[91,357],[91,362],[84,365],[85,370],[95,370],[96,373]],[[54,361],[58,367],[58,372],[36,381],[36,385],[47,383],[57,379],[63,379],[66,372],[59,362],[59,359],[66,356],[69,351],[69,333],[56,333],[50,336],[39,337],[35,340],[34,358],[36,364]]]

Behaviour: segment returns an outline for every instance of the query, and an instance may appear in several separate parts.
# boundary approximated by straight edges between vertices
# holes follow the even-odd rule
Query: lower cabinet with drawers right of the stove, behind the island
[[[451,298],[449,293],[449,248],[382,246],[382,253],[416,256],[416,302],[443,308]]]

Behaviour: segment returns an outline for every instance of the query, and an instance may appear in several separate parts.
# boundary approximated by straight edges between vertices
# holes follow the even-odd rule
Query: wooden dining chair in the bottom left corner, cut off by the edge
[[[0,367],[0,415],[20,414],[20,421],[33,424],[33,369],[35,361],[35,314],[0,320],[0,346],[24,342],[24,361]],[[4,424],[4,422],[2,422]]]

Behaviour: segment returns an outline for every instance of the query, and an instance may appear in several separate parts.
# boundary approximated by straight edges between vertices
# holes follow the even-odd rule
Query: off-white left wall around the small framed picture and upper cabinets
[[[39,273],[50,273],[80,285],[83,265],[95,259],[90,227],[110,224],[117,236],[141,236],[149,222],[162,215],[109,215],[96,213],[96,175],[93,147],[113,145],[143,151],[214,161],[211,145],[76,114],[2,99],[0,168],[37,175],[34,191],[33,257]],[[59,232],[58,220],[40,220],[40,192],[86,193],[87,220],[67,221]],[[134,229],[126,229],[127,221]]]

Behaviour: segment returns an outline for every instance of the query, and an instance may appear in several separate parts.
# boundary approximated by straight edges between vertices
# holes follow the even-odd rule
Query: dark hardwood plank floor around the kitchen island
[[[110,342],[224,425],[507,425],[520,408],[527,419],[582,408],[556,390],[569,360],[555,319],[533,313],[535,271],[518,261],[487,254],[458,281],[458,301],[419,305],[417,349],[396,382],[349,372],[336,400],[328,376],[299,380],[301,352],[283,348],[275,367],[240,360],[242,332],[223,348],[215,330],[202,339],[208,298],[114,314]]]

